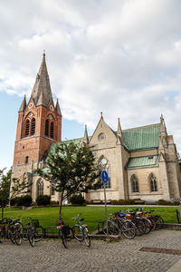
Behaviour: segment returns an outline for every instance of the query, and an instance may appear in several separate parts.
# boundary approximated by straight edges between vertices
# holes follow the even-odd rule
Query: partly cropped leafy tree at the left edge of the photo
[[[7,171],[5,169],[0,170],[0,205],[2,209],[2,219],[4,218],[4,208],[11,199],[14,199],[20,195],[24,190],[29,191],[29,187],[32,185],[27,180],[20,181],[17,178],[12,179],[12,169]],[[12,184],[12,186],[11,186]]]

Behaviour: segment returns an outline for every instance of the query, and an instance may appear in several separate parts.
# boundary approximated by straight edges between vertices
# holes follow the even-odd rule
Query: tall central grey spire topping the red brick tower
[[[45,53],[43,53],[43,61],[33,85],[32,97],[35,105],[44,105],[47,107],[52,101],[52,90],[45,62]]]

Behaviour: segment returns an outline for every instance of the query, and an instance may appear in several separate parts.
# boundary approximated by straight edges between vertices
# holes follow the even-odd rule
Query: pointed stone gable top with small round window
[[[103,117],[100,117],[100,121],[96,130],[90,139],[90,146],[95,145],[96,148],[109,148],[116,145],[117,138],[114,132],[110,129]]]

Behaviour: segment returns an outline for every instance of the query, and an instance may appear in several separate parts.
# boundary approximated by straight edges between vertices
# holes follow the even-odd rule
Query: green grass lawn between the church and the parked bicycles
[[[138,207],[137,207],[138,208]],[[108,213],[118,211],[119,209],[134,209],[134,207],[108,207]],[[160,214],[166,223],[177,223],[176,220],[176,207],[148,207],[146,210],[154,209],[155,213]],[[18,208],[6,208],[5,218],[11,217],[31,217],[33,219],[39,219],[40,225],[43,227],[56,226],[58,219],[59,207],[52,208],[36,208],[36,209],[18,209]],[[90,232],[97,229],[98,221],[105,219],[104,207],[63,207],[62,218],[66,225],[74,225],[75,221],[72,219],[78,213],[81,213],[81,218],[84,218],[84,222],[88,224]]]

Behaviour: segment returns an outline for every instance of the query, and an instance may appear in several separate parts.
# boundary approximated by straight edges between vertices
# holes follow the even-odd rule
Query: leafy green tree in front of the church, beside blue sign
[[[62,201],[72,194],[99,189],[101,186],[100,170],[95,165],[95,158],[89,147],[70,143],[54,144],[47,158],[45,167],[36,172],[52,183],[56,191],[61,192],[59,217],[62,213]]]

